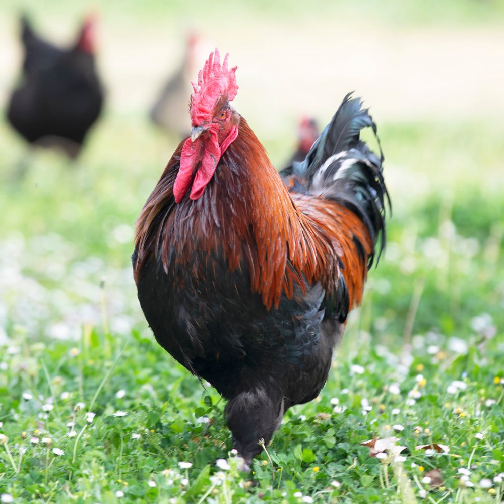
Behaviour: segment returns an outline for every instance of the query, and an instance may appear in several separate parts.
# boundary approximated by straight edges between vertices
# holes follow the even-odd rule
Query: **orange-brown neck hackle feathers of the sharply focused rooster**
[[[282,292],[291,297],[296,283],[304,289],[305,280],[321,281],[329,291],[336,288],[339,270],[331,237],[294,203],[243,118],[202,197],[186,197],[176,205],[173,183],[181,145],[136,223],[137,278],[153,249],[167,270],[169,256],[187,263],[199,247],[207,256],[220,250],[231,271],[245,261],[251,289],[268,309],[278,306]]]

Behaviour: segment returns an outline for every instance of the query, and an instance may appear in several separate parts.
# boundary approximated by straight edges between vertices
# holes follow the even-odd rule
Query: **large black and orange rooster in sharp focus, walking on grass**
[[[249,469],[287,409],[324,386],[384,246],[388,194],[383,156],[359,139],[376,126],[350,96],[294,164],[289,191],[230,105],[235,72],[216,49],[193,83],[191,136],[137,219],[132,260],[156,340],[228,400]]]

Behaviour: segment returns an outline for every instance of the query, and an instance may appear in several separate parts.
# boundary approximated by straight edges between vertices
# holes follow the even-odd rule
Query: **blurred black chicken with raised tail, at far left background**
[[[7,117],[28,142],[60,147],[76,158],[100,115],[103,89],[95,68],[94,19],[85,19],[77,41],[59,48],[41,39],[21,18],[23,72]]]

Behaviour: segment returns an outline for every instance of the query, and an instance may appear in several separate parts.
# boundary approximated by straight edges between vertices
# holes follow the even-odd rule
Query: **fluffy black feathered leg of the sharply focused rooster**
[[[250,471],[253,457],[262,451],[260,440],[266,445],[270,442],[283,414],[283,396],[262,387],[241,392],[227,403],[227,425],[233,434],[233,448],[243,457],[244,471]]]

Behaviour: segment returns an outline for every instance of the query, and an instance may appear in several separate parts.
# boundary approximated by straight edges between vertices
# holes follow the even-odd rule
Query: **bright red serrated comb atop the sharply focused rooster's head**
[[[236,84],[236,69],[228,70],[226,53],[222,65],[220,63],[219,49],[215,49],[215,54],[205,61],[203,70],[198,73],[198,83],[193,85],[193,96],[191,102],[191,122],[193,126],[199,126],[204,121],[210,121],[213,117],[213,109],[221,96],[226,96],[227,101],[232,101],[238,92]]]

